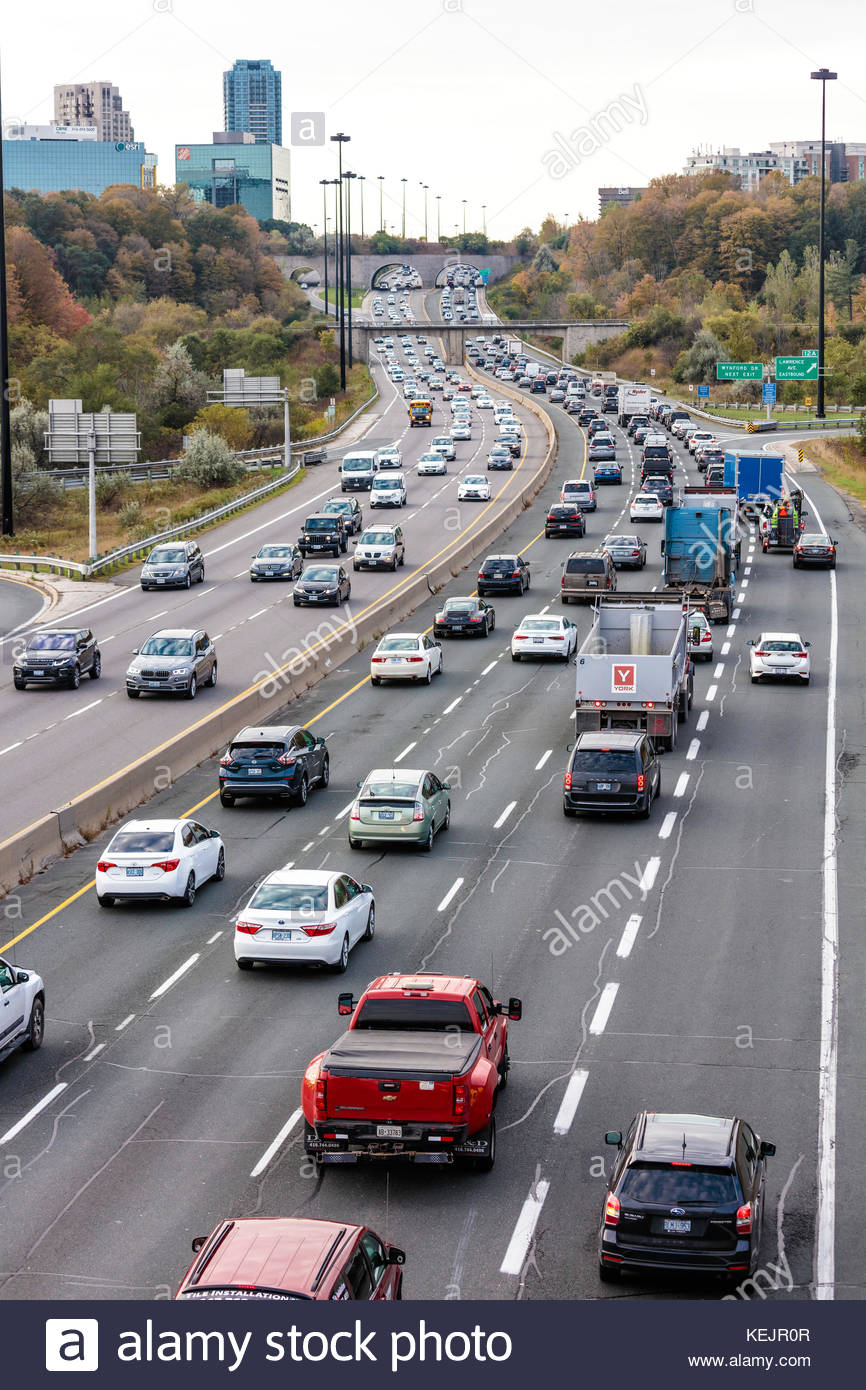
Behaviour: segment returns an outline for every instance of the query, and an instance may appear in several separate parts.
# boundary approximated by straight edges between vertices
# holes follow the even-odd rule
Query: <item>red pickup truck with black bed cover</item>
[[[489,1173],[498,1093],[509,1076],[509,1019],[523,1015],[470,976],[385,974],[360,999],[341,994],[349,1029],[310,1062],[304,1150],[316,1163],[407,1159]]]

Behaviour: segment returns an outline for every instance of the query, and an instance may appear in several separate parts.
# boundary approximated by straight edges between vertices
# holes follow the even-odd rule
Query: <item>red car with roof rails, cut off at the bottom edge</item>
[[[406,1255],[368,1226],[307,1216],[220,1222],[192,1243],[196,1254],[175,1298],[402,1298]]]

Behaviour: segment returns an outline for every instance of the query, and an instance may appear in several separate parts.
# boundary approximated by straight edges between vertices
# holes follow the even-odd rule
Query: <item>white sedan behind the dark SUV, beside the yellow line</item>
[[[192,908],[209,878],[225,878],[218,830],[197,820],[129,820],[96,865],[96,901],[113,908],[124,898],[157,898]]]

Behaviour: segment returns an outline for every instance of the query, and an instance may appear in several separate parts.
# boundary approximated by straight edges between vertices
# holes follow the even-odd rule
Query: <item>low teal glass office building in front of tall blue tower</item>
[[[291,154],[281,145],[260,145],[249,132],[217,131],[210,145],[177,145],[175,170],[177,182],[186,183],[199,203],[240,203],[260,222],[292,221]]]

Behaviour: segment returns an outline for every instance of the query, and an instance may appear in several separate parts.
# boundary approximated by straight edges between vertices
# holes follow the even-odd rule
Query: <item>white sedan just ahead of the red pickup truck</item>
[[[277,869],[235,919],[239,970],[256,962],[328,965],[342,974],[357,941],[371,941],[375,899],[368,883],[322,869]]]

